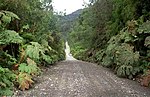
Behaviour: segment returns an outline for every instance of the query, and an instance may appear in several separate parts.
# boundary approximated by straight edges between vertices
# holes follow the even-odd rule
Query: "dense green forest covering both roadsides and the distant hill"
[[[73,56],[150,84],[150,1],[90,0],[60,16],[52,0],[0,0],[0,96],[32,87],[42,68]]]

